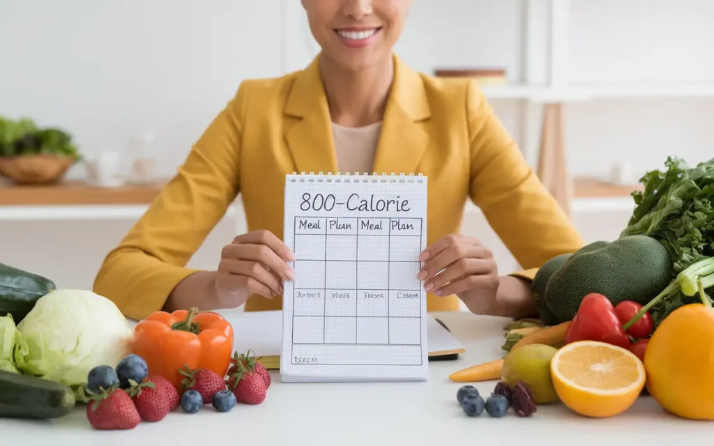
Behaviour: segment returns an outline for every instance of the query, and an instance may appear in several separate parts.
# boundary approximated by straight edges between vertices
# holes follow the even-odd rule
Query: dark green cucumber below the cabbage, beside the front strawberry
[[[74,410],[74,392],[60,382],[0,370],[0,417],[49,420]]]

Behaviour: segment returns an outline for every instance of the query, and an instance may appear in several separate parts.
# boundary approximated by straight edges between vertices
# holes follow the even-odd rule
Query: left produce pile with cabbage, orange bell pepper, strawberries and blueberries
[[[271,375],[232,350],[218,313],[157,311],[132,330],[111,300],[0,263],[0,417],[59,418],[79,402],[89,425],[117,430],[177,407],[260,404]]]

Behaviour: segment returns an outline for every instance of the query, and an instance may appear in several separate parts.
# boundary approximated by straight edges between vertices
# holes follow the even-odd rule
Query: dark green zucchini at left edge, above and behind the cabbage
[[[56,290],[52,280],[0,263],[0,316],[20,323],[42,296]]]

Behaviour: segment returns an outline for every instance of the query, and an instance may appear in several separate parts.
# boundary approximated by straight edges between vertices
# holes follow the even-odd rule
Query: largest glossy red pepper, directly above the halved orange
[[[631,344],[613,304],[598,293],[590,293],[583,298],[578,313],[565,332],[566,344],[578,340],[596,340],[622,348],[629,348]]]

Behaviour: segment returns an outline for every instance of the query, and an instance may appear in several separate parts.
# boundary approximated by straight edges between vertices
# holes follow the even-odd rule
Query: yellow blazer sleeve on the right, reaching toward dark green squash
[[[498,121],[476,81],[468,83],[466,102],[471,200],[524,268],[513,275],[532,280],[540,265],[555,255],[574,253],[583,239]]]

